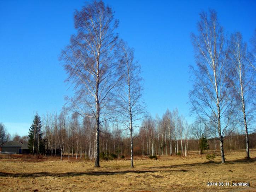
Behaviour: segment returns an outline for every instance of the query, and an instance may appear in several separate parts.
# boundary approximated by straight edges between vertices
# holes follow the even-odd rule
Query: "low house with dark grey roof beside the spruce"
[[[8,141],[1,146],[1,153],[7,154],[23,154],[29,153],[28,144],[26,142],[21,141]]]

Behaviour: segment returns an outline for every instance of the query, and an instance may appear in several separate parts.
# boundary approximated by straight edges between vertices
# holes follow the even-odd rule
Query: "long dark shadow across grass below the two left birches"
[[[5,173],[0,172],[0,177],[24,177],[24,178],[37,178],[43,176],[52,177],[70,177],[70,176],[82,176],[82,175],[116,175],[126,173],[156,173],[163,170],[126,170],[126,171],[85,171],[85,172],[66,172],[66,173],[50,173],[50,172],[38,172],[38,173]],[[164,170],[163,172],[186,172],[188,170]]]

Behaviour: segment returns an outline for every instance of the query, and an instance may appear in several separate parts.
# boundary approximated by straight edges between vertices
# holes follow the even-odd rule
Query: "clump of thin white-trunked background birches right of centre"
[[[188,153],[188,123],[178,109],[169,109],[162,118],[146,117],[139,131],[142,144],[142,155],[177,155],[179,145],[181,154]]]

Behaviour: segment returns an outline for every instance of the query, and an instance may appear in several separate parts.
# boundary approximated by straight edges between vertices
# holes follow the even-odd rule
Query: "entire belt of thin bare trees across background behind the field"
[[[103,123],[99,133],[99,151],[106,156],[115,154],[117,158],[130,155],[129,128],[121,128],[122,123]],[[166,110],[160,118],[147,116],[138,131],[134,132],[133,153],[136,156],[166,156],[200,154],[199,139],[202,134],[208,138],[210,151],[220,152],[220,141],[204,123],[188,125],[178,109]],[[255,147],[255,134],[250,135],[250,147]],[[46,114],[42,117],[42,141],[45,151],[42,155],[68,158],[95,158],[95,120],[82,118],[71,111],[62,111],[59,115]],[[225,137],[226,150],[246,149],[245,135],[239,129]]]

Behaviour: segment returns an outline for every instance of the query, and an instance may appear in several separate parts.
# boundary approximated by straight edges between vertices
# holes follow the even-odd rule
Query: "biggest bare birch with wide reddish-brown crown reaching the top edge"
[[[100,123],[109,118],[106,116],[110,113],[106,111],[111,108],[119,75],[115,57],[118,21],[103,1],[94,1],[76,11],[74,20],[77,34],[71,36],[61,59],[69,75],[67,81],[71,81],[76,90],[72,104],[81,115],[96,120],[94,166],[99,167]]]

